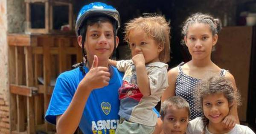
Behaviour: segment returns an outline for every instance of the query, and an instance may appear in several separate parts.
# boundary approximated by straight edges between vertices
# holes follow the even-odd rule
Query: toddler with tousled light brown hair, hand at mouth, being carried
[[[132,60],[110,61],[124,71],[119,88],[120,123],[116,134],[152,134],[157,115],[152,110],[168,86],[169,23],[160,15],[138,17],[125,25]]]

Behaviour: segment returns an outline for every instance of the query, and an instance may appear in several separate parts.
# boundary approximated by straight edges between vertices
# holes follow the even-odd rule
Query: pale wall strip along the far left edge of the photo
[[[7,0],[0,0],[0,134],[9,134]]]

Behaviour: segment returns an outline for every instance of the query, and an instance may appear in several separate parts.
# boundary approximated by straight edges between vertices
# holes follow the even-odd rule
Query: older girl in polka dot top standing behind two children
[[[171,96],[183,97],[191,108],[190,119],[201,117],[202,113],[196,111],[194,92],[195,87],[202,78],[210,74],[227,77],[233,82],[235,80],[230,72],[221,69],[211,60],[212,49],[217,43],[218,32],[221,30],[219,19],[211,15],[196,13],[192,14],[184,23],[182,34],[184,45],[187,46],[192,60],[181,63],[168,72],[169,87],[163,93],[162,102]],[[236,89],[236,88],[234,88]],[[223,120],[226,127],[232,128],[239,123],[236,105],[234,105],[228,116]]]

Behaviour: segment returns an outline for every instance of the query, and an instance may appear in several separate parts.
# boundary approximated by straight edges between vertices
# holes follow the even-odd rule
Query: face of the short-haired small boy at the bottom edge
[[[169,106],[163,118],[164,134],[184,134],[189,121],[189,114],[186,108]]]

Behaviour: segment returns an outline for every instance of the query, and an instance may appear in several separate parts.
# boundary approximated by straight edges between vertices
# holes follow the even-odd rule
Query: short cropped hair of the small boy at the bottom
[[[185,108],[188,111],[188,115],[190,117],[190,108],[189,108],[189,103],[184,100],[181,97],[170,97],[169,99],[165,100],[162,105],[161,105],[161,110],[160,110],[160,115],[161,118],[163,119],[164,116],[166,115],[166,111],[168,107],[176,107],[176,108]]]

